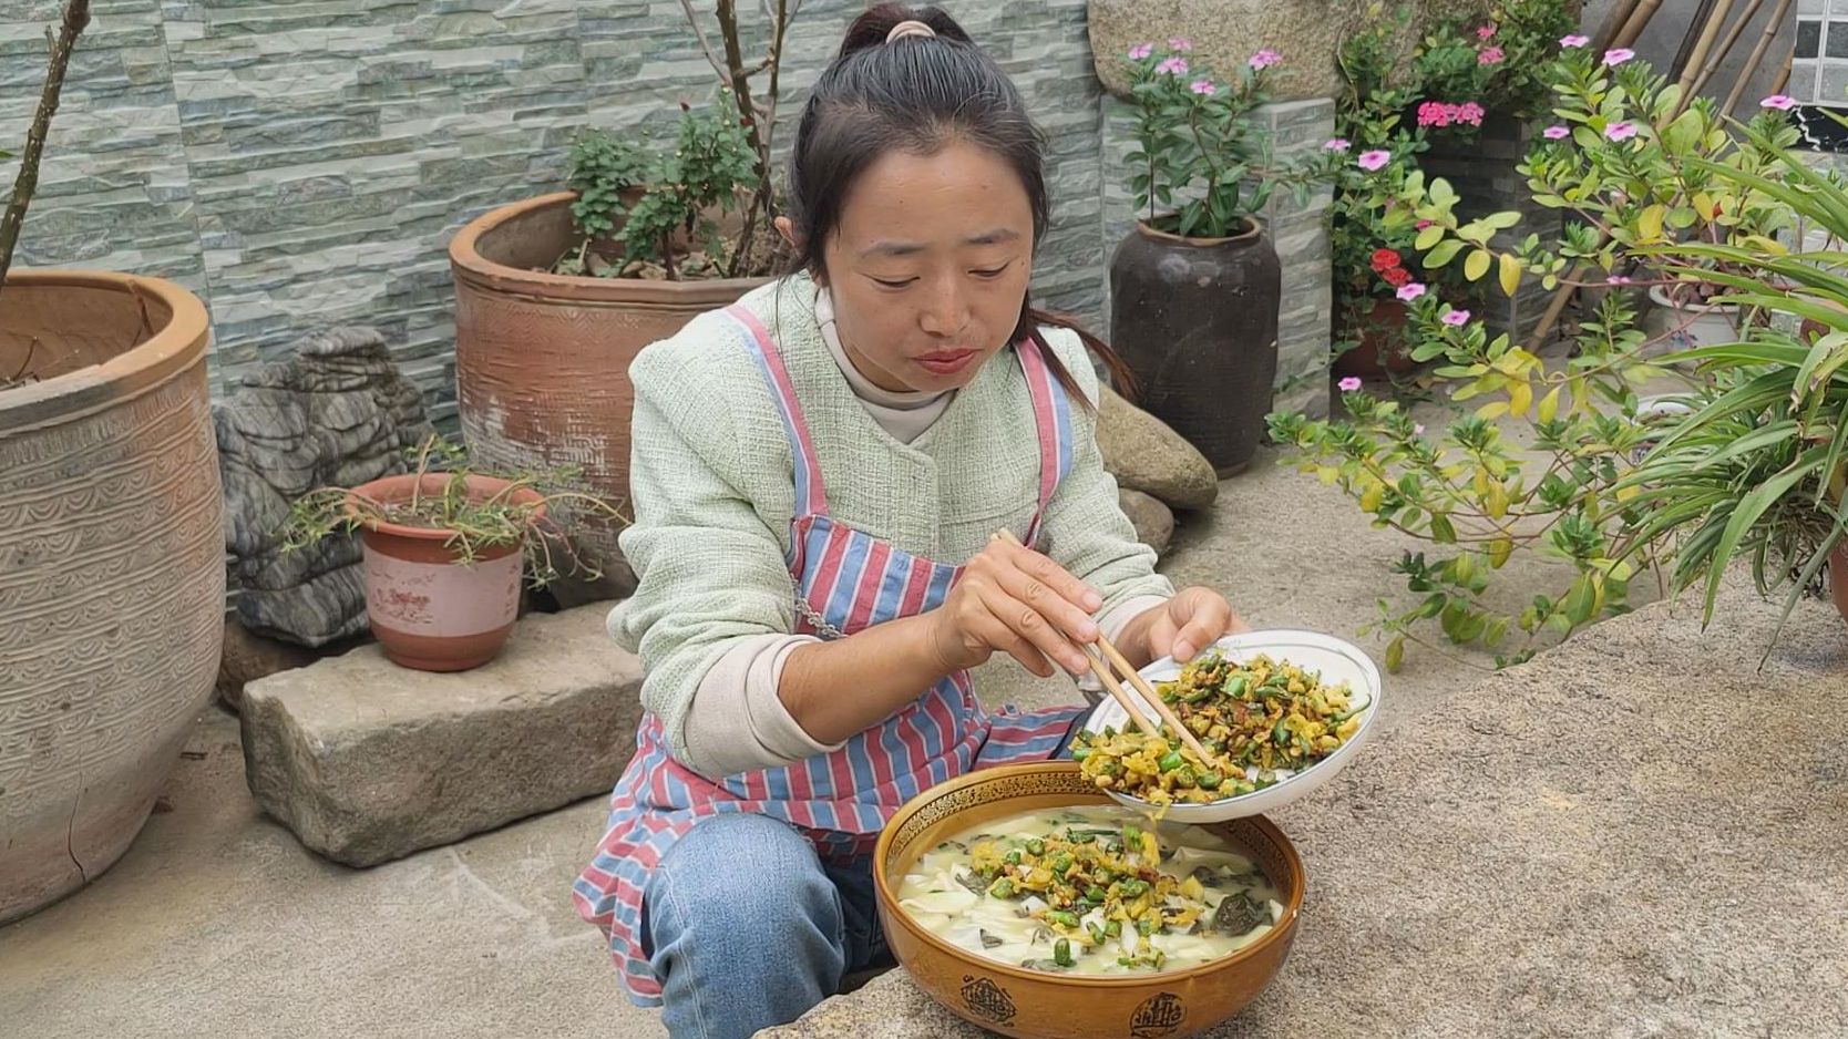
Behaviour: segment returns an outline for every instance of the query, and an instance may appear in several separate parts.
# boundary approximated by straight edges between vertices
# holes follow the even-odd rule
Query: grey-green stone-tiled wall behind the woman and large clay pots
[[[695,4],[711,30],[711,4]],[[1048,135],[1044,305],[1100,322],[1098,81],[1085,0],[942,4]],[[861,0],[809,0],[778,141]],[[0,0],[0,144],[24,141],[57,0]],[[754,4],[743,18],[761,24]],[[665,126],[715,76],[673,0],[288,4],[98,0],[52,128],[24,263],[163,274],[205,298],[216,385],[307,327],[371,324],[455,414],[445,248],[554,190],[580,126]],[[756,48],[752,48],[756,50]],[[17,165],[0,161],[0,185]],[[4,189],[0,189],[4,190]]]

